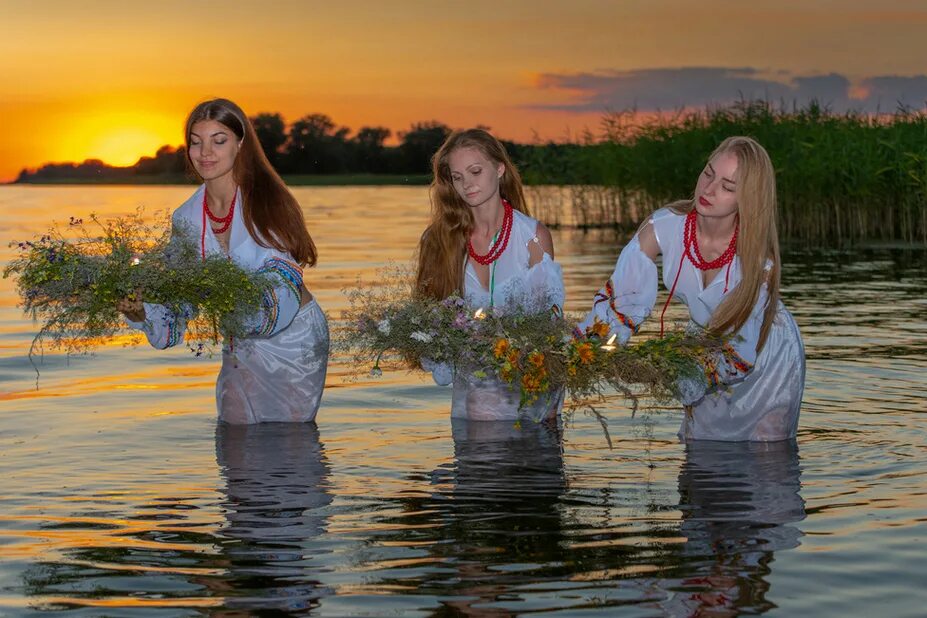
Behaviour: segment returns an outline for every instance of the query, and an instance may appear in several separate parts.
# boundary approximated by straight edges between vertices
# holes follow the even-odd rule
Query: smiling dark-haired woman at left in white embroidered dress
[[[251,334],[226,344],[216,383],[219,420],[312,421],[328,367],[325,314],[303,281],[315,244],[302,209],[264,154],[250,120],[227,99],[197,105],[186,122],[187,163],[203,182],[172,216],[175,233],[192,233],[200,251],[228,256],[274,281]],[[140,298],[119,303],[130,326],[156,348],[183,341],[190,312]]]

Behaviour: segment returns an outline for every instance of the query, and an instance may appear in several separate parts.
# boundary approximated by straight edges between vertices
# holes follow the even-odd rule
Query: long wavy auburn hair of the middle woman
[[[521,176],[502,143],[483,129],[451,133],[431,158],[431,224],[419,242],[415,292],[428,298],[463,293],[467,240],[474,222],[471,207],[454,188],[447,161],[459,148],[476,148],[494,164],[503,164],[499,194],[515,210],[528,214]]]

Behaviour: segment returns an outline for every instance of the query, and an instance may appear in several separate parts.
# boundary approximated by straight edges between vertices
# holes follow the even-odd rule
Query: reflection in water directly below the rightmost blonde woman
[[[663,609],[724,616],[775,607],[768,577],[774,553],[800,544],[792,525],[805,518],[800,489],[793,441],[688,444],[679,473],[684,573]]]

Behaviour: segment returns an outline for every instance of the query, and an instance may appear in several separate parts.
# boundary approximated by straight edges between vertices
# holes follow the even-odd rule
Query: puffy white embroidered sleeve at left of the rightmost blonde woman
[[[592,309],[580,322],[578,335],[617,335],[627,343],[650,315],[657,301],[657,266],[641,250],[637,236],[625,246],[605,287],[596,292]]]

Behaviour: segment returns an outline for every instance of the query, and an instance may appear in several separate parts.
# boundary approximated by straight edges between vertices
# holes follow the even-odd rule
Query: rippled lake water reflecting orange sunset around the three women
[[[0,187],[7,240],[173,208],[189,187]],[[333,325],[409,260],[424,188],[297,188]],[[554,234],[567,309],[612,233]],[[0,614],[923,616],[927,252],[790,250],[805,340],[797,446],[702,443],[679,413],[451,423],[450,392],[333,358],[316,425],[220,427],[216,360],[116,343],[26,358],[0,281]],[[677,310],[677,317],[682,314]]]

